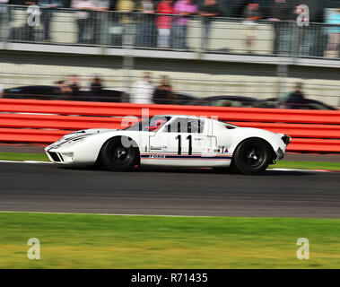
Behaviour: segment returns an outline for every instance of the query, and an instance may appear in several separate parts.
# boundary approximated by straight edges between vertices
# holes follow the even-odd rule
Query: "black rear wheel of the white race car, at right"
[[[240,143],[232,161],[240,173],[262,173],[272,161],[271,146],[262,139],[250,138]]]

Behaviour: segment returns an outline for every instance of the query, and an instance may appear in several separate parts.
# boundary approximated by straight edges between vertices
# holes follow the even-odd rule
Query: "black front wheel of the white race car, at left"
[[[114,137],[103,144],[100,162],[108,170],[128,171],[138,162],[139,150],[133,145],[124,147],[121,137]]]

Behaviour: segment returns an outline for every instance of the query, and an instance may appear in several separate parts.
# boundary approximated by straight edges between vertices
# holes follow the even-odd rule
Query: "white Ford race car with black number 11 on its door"
[[[133,120],[128,120],[131,124]],[[148,117],[125,129],[87,129],[63,136],[45,151],[58,165],[100,164],[108,170],[135,166],[236,168],[257,174],[283,159],[291,137],[239,127],[207,117]]]

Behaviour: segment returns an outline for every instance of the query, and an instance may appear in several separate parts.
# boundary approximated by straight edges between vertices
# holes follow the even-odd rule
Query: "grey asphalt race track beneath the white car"
[[[210,169],[130,172],[0,163],[0,210],[340,218],[340,173]]]

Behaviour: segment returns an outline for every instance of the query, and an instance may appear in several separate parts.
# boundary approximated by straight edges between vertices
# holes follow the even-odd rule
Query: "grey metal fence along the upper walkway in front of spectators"
[[[338,26],[6,5],[0,41],[339,58]]]

